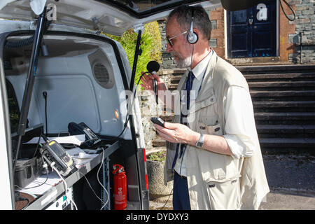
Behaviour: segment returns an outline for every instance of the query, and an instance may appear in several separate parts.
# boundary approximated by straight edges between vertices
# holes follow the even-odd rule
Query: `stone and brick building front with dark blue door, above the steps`
[[[231,64],[315,64],[314,0],[267,1],[246,10],[209,10],[209,45]],[[290,21],[290,20],[294,20]],[[160,20],[162,68],[174,69],[166,52],[165,20]]]

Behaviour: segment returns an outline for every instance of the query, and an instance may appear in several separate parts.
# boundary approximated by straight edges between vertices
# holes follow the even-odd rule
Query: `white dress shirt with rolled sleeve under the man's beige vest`
[[[213,51],[211,50],[209,55],[193,69],[195,79],[193,80],[192,91],[195,90],[196,94],[190,94],[190,105],[197,98],[197,92],[202,84],[202,77],[212,54]],[[186,100],[183,94],[182,100]],[[253,104],[251,95],[243,87],[231,86],[228,89],[225,103],[225,133],[223,137],[230,146],[232,156],[235,156],[235,158],[249,157],[255,153],[253,151],[255,147],[253,146],[259,144],[259,142],[253,117]],[[179,151],[180,149],[179,146]],[[186,153],[181,158],[177,157],[174,169],[181,176],[187,176]]]

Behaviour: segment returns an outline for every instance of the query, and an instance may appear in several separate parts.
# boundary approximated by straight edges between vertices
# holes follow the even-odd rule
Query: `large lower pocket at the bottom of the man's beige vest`
[[[236,210],[241,207],[239,177],[225,182],[205,183],[212,210]]]

